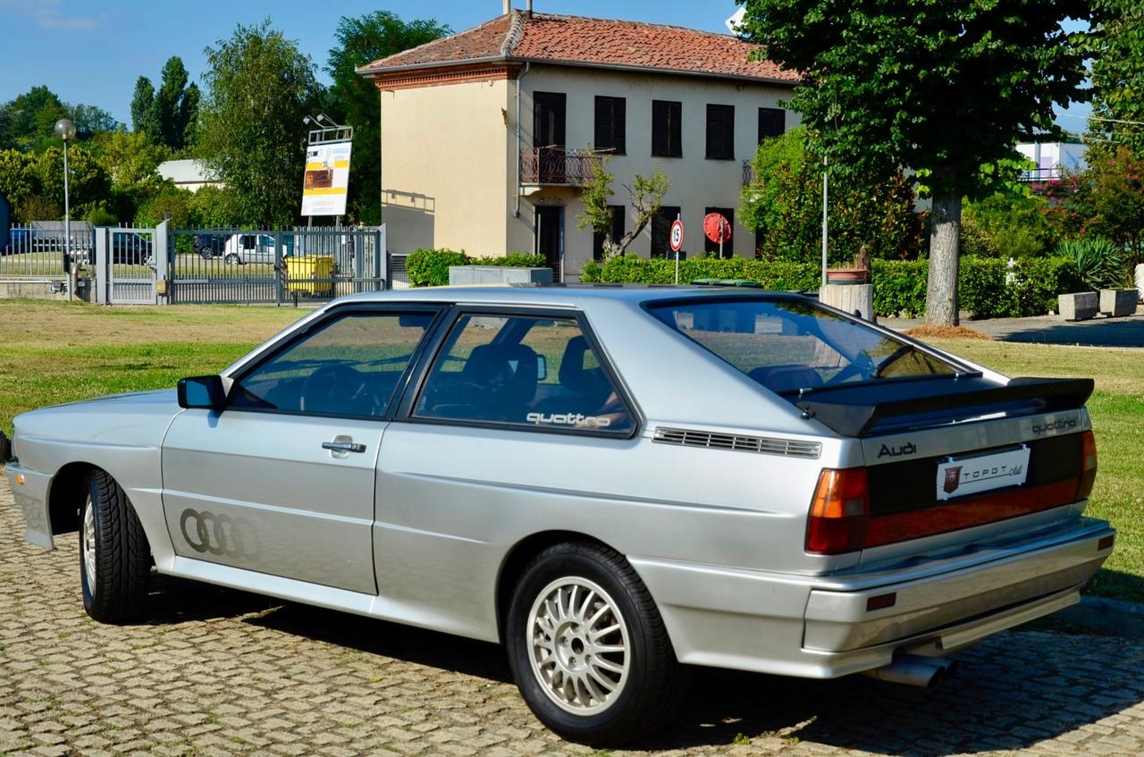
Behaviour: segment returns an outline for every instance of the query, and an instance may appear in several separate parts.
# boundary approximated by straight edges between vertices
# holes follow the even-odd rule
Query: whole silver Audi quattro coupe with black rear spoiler
[[[614,743],[689,666],[928,685],[1078,601],[1114,539],[1091,390],[792,294],[388,292],[21,415],[7,475],[97,621],[153,567],[499,642],[537,717]]]

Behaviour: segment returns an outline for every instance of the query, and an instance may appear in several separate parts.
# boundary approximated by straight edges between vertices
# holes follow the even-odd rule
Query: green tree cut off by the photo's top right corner
[[[1089,149],[1109,154],[1123,145],[1144,158],[1144,6],[1093,0],[1093,115],[1107,120],[1089,121]]]

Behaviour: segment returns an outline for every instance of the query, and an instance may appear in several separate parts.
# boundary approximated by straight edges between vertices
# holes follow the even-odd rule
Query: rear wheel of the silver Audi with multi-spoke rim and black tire
[[[524,701],[571,741],[619,744],[659,731],[683,671],[648,588],[618,552],[557,544],[525,568],[506,627]]]

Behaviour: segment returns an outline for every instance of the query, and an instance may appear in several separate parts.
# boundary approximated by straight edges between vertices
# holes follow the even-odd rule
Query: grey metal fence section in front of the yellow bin
[[[172,303],[321,302],[386,288],[386,230],[182,229],[167,271]]]

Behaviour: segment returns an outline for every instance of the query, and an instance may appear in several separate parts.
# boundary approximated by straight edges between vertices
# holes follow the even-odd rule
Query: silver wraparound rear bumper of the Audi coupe
[[[681,662],[811,678],[943,655],[1079,601],[1112,552],[1107,523],[1071,519],[1003,543],[831,576],[631,558]],[[874,597],[892,606],[867,609]]]

